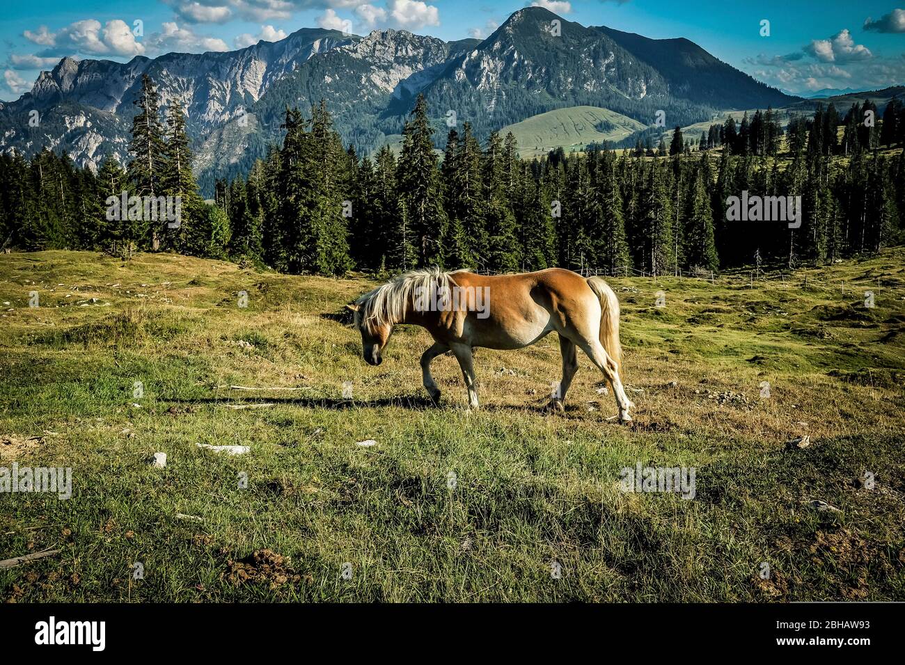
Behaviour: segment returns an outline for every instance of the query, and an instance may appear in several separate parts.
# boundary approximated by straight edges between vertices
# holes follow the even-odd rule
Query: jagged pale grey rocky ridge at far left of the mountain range
[[[63,58],[42,71],[33,89],[0,109],[0,149],[26,154],[46,145],[69,151],[80,165],[99,166],[108,152],[128,159],[129,130],[141,77],[157,84],[161,106],[179,97],[186,104],[193,138],[242,113],[262,92],[312,56],[359,37],[305,28],[279,42],[259,42],[239,51],[137,56],[126,63]],[[39,124],[28,120],[38,112]]]

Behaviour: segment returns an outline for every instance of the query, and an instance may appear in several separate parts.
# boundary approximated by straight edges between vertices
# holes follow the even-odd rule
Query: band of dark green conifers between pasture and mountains
[[[785,133],[771,109],[750,122],[746,115],[737,131],[728,119],[695,142],[676,128],[670,147],[662,141],[653,155],[590,146],[527,160],[511,134],[481,144],[467,122],[437,149],[423,97],[398,154],[385,146],[359,157],[321,100],[307,116],[286,109],[282,145],[246,176],[218,181],[213,204],[198,194],[178,102],[162,121],[146,77],[136,104],[125,167],[108,158],[94,174],[47,149],[31,160],[0,157],[0,242],[174,251],[327,275],[424,266],[673,274],[755,257],[794,267],[900,242],[905,157],[878,149],[903,143],[897,103],[875,127],[843,130],[841,141],[834,121],[838,133],[865,107],[845,119],[818,107]],[[111,221],[104,202],[124,189],[181,196],[181,223]],[[729,221],[727,201],[743,192],[800,197],[801,224]]]

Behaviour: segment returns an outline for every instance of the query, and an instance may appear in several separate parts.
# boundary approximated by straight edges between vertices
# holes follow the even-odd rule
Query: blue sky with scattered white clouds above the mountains
[[[0,100],[30,90],[64,55],[128,62],[138,54],[226,51],[318,25],[484,37],[526,5],[584,25],[687,37],[793,92],[905,83],[905,0],[33,0],[4,7]],[[769,36],[761,35],[763,20]]]

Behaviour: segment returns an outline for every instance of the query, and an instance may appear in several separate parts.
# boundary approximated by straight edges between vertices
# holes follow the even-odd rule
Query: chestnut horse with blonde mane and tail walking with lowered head
[[[479,407],[472,353],[475,347],[517,349],[536,344],[556,331],[562,354],[562,380],[549,406],[564,411],[564,400],[578,368],[580,348],[613,388],[619,420],[632,420],[634,404],[626,396],[620,369],[619,300],[599,277],[549,268],[508,275],[428,269],[405,272],[346,306],[361,333],[362,353],[373,366],[397,324],[425,328],[433,346],[421,356],[424,387],[434,404],[440,389],[431,362],[448,351],[459,361],[470,409]]]

